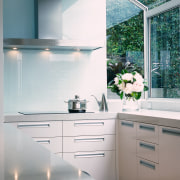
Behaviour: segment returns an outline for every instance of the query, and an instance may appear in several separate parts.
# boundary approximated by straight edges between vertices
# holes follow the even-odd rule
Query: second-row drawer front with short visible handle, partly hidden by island
[[[62,137],[55,138],[33,138],[34,141],[46,147],[53,153],[62,152]]]

